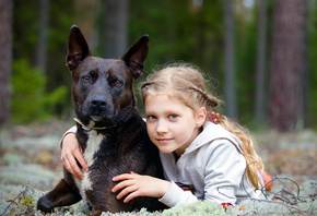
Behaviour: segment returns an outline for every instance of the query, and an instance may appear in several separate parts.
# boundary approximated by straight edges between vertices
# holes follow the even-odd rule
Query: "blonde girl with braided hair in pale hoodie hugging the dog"
[[[220,100],[207,92],[197,69],[166,67],[148,77],[141,94],[148,133],[160,149],[166,180],[122,173],[113,179],[119,182],[113,188],[117,199],[152,196],[173,207],[198,200],[226,206],[263,197],[256,191],[262,187],[258,170],[263,164],[253,139],[247,130],[213,112]],[[78,144],[71,135],[63,142],[68,142],[62,145],[63,164],[80,176],[74,157],[85,163]]]

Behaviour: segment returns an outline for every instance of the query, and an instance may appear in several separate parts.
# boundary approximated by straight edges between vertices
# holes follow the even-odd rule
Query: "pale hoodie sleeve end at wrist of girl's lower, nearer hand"
[[[168,207],[174,207],[178,204],[190,204],[198,199],[190,191],[183,191],[174,181],[172,181],[167,192],[158,200]]]

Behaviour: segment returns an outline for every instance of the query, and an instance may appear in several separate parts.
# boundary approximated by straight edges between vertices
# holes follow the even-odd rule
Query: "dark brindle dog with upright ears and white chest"
[[[51,213],[82,199],[94,215],[165,208],[157,199],[124,203],[111,192],[116,184],[111,179],[117,175],[133,171],[163,179],[158,149],[148,136],[133,93],[148,51],[149,36],[144,35],[120,59],[93,57],[80,28],[71,27],[66,64],[72,76],[75,135],[90,171],[78,180],[63,168],[63,179],[38,200],[38,209]]]

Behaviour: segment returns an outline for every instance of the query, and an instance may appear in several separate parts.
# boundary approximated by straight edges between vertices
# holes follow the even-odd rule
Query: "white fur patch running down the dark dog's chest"
[[[92,130],[87,132],[89,139],[86,143],[86,148],[84,151],[84,158],[89,167],[94,164],[94,154],[101,148],[101,143],[105,139],[103,134],[98,134],[96,131]],[[84,172],[83,179],[77,180],[77,185],[81,191],[83,200],[85,200],[85,191],[92,190],[92,181],[90,179],[91,171]]]

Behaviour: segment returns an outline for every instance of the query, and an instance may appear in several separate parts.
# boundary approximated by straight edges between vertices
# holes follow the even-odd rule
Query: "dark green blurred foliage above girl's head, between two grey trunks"
[[[222,0],[130,0],[129,44],[143,34],[150,35],[145,73],[138,82],[156,65],[186,61],[199,65],[213,84],[210,89],[222,97],[224,85],[218,82],[223,79],[222,8]],[[141,99],[138,101],[142,108]]]

